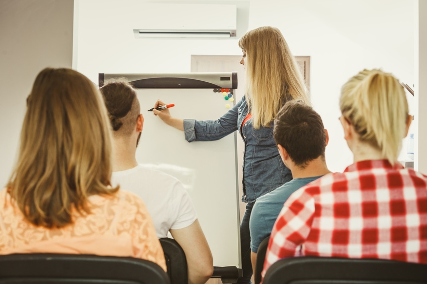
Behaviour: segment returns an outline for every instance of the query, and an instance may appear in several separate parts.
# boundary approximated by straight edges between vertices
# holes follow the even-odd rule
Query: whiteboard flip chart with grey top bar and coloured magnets
[[[165,124],[147,111],[157,99],[161,99],[167,104],[175,104],[175,107],[169,108],[174,117],[216,120],[236,101],[225,100],[224,94],[213,86],[221,87],[218,84],[222,84],[222,87],[235,88],[237,73],[233,72],[232,75],[235,75],[235,81],[227,82],[224,76],[234,77],[231,73],[101,73],[100,86],[104,80],[116,77],[134,82],[141,78],[154,78],[151,83],[139,81],[134,84],[142,87],[136,91],[144,117],[136,160],[166,172],[183,183],[211,248],[214,266],[241,268],[236,132],[216,141],[188,143],[184,131]],[[233,94],[230,95],[234,98]],[[227,104],[230,108],[226,107]]]

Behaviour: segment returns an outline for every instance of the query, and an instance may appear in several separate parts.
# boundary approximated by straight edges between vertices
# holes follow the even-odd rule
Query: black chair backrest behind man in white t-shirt
[[[171,238],[160,238],[171,284],[188,284],[187,258],[180,244]]]

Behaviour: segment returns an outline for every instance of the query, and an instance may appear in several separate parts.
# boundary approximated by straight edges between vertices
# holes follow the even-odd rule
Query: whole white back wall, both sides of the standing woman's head
[[[132,31],[144,17],[143,3],[79,1],[77,70],[97,82],[99,72],[190,72],[192,54],[241,55],[237,39],[134,39]],[[344,170],[353,158],[338,121],[340,87],[364,68],[382,68],[410,86],[414,83],[414,2],[250,0],[249,4],[249,29],[275,26],[294,55],[311,56],[312,102],[330,135],[327,164],[332,171]],[[409,99],[412,108],[413,98]]]

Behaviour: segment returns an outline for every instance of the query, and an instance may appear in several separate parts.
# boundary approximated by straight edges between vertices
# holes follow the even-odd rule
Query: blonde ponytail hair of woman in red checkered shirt
[[[399,81],[378,69],[363,70],[341,88],[341,113],[364,141],[394,165],[406,134],[408,102]]]

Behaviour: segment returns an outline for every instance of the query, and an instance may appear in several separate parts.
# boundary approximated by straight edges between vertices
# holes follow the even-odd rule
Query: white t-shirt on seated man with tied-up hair
[[[113,187],[133,192],[145,203],[154,222],[157,237],[167,237],[169,229],[182,229],[197,219],[193,202],[182,183],[166,173],[142,165],[113,172]]]

